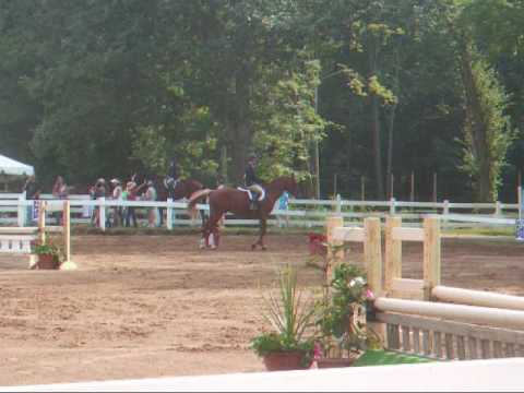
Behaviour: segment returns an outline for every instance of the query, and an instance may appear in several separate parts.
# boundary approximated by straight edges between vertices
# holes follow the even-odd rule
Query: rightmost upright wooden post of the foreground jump
[[[440,219],[424,219],[424,297],[431,299],[431,290],[440,284]]]

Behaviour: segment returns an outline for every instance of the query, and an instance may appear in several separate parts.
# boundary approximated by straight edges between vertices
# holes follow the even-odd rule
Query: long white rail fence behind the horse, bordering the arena
[[[455,203],[443,202],[405,202],[392,199],[390,201],[348,201],[337,195],[335,200],[289,200],[288,210],[274,209],[269,221],[270,225],[290,227],[321,227],[325,224],[326,216],[336,213],[347,223],[361,223],[364,217],[384,218],[388,215],[398,215],[406,225],[419,227],[428,214],[441,216],[443,226],[453,227],[514,227],[517,218],[523,218],[524,199],[522,188],[519,191],[519,203]],[[43,200],[49,202],[49,211],[60,211],[62,203],[53,200],[51,194],[44,194]],[[159,225],[167,229],[179,226],[198,226],[200,219],[191,219],[187,212],[184,201],[117,201],[110,199],[92,200],[86,194],[69,196],[71,202],[71,223],[91,224],[94,215],[99,214],[100,229],[105,230],[110,225],[115,215],[114,207],[127,210],[134,207],[139,225],[147,223],[147,210],[156,209]],[[196,207],[209,212],[209,205],[199,204]],[[275,205],[276,207],[276,205]],[[0,225],[16,225],[19,227],[31,225],[31,217],[35,210],[34,201],[26,201],[24,194],[0,193]],[[99,212],[99,213],[96,213]],[[51,217],[47,219],[52,221]],[[226,226],[255,226],[257,221],[237,219],[227,215]]]

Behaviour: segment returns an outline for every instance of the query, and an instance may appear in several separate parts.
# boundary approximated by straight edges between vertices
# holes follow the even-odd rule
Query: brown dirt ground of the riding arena
[[[196,235],[75,236],[79,270],[28,271],[0,255],[0,385],[172,377],[263,370],[249,341],[263,324],[261,295],[275,269],[307,265],[305,235],[226,235],[200,251]],[[348,259],[361,263],[361,247]],[[404,275],[421,276],[421,247],[404,247]],[[524,295],[524,245],[445,239],[450,286]]]

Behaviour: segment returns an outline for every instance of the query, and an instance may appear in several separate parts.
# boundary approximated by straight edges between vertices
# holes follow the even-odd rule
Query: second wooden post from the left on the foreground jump
[[[374,296],[382,296],[382,239],[380,218],[372,217],[364,221],[366,241],[364,242],[364,258],[368,285]]]

